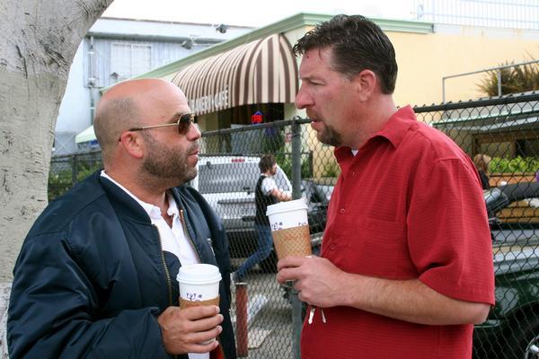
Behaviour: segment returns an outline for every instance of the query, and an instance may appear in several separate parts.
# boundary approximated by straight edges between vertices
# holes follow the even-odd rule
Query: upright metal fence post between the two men
[[[298,117],[292,122],[292,197],[301,197],[301,125],[297,123]],[[301,302],[297,297],[297,291],[293,287],[290,290],[290,303],[292,304],[292,355],[299,359],[299,341],[301,337],[302,318]]]

